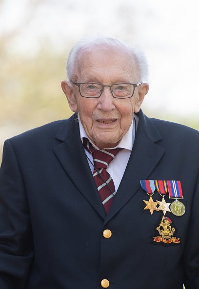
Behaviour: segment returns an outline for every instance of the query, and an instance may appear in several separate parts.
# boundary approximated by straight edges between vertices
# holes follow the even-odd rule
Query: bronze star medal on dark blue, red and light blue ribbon
[[[141,188],[147,193],[147,195],[150,196],[150,199],[148,201],[143,200],[143,202],[145,202],[146,204],[146,206],[144,207],[144,210],[149,210],[151,215],[153,215],[154,211],[159,211],[157,208],[158,203],[154,202],[152,199],[152,196],[156,189],[154,181],[153,180],[141,180],[140,183],[141,183]]]

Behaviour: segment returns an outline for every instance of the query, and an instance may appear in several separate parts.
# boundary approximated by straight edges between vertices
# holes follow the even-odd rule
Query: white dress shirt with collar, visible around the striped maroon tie
[[[79,119],[79,125],[80,125],[80,138],[81,138],[82,143],[83,143],[83,138],[87,138],[89,140],[89,142],[96,149],[99,149],[99,147],[97,147],[95,144],[93,144],[93,142],[87,136],[87,134],[86,134],[86,132],[85,132],[85,130],[81,124],[79,115],[78,115],[78,119]],[[111,175],[111,177],[114,181],[116,192],[118,190],[120,181],[123,177],[124,171],[126,169],[127,163],[129,161],[129,158],[130,158],[131,150],[133,148],[133,144],[134,144],[134,140],[135,140],[135,136],[136,136],[136,129],[138,127],[138,121],[139,121],[139,117],[134,114],[133,122],[132,122],[129,130],[123,136],[123,138],[120,140],[120,142],[117,144],[117,146],[112,147],[112,148],[116,148],[116,147],[123,148],[121,151],[119,151],[119,153],[116,155],[116,157],[113,159],[113,161],[109,164],[109,166],[107,168],[107,172]],[[104,149],[108,150],[111,148],[104,148]],[[92,154],[90,152],[88,152],[85,148],[84,148],[84,150],[85,150],[85,154],[86,154],[87,158],[89,158],[89,160],[90,160],[90,162],[88,160],[88,163],[89,163],[90,169],[93,173],[94,167],[93,167]]]

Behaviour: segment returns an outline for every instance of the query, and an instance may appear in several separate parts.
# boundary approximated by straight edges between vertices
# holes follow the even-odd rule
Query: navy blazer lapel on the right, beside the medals
[[[162,137],[152,121],[139,112],[136,139],[117,194],[107,214],[108,222],[140,188],[140,180],[147,180],[159,163],[164,149],[156,144]]]

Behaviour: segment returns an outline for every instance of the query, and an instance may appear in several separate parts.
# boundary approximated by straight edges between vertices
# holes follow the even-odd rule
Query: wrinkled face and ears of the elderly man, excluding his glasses
[[[136,83],[132,60],[128,54],[116,49],[95,47],[92,51],[85,51],[78,67],[75,79],[77,83]],[[81,97],[75,85],[69,89],[67,82],[62,82],[62,89],[70,108],[79,111],[86,134],[99,148],[110,148],[118,144],[131,126],[133,113],[139,111],[147,92],[139,96],[139,88],[136,88],[133,97],[116,99],[110,88],[105,87],[100,98],[91,99]]]

